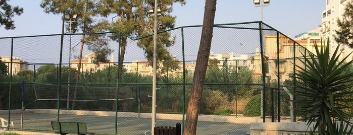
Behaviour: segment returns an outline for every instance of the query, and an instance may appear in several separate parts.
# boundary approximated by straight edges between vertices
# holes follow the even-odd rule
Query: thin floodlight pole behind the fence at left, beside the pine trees
[[[71,25],[72,22],[76,22],[77,14],[65,15],[66,22],[70,23],[70,45],[69,45],[69,71],[68,71],[68,87],[67,87],[67,104],[66,108],[69,109],[69,99],[70,99],[70,72],[71,72]]]

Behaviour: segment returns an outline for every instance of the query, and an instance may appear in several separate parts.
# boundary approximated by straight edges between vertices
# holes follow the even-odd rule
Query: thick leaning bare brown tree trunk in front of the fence
[[[204,89],[207,64],[210,56],[213,23],[215,20],[216,0],[206,0],[204,24],[201,33],[200,46],[197,53],[195,73],[192,80],[189,103],[187,105],[184,134],[196,134],[198,110]]]

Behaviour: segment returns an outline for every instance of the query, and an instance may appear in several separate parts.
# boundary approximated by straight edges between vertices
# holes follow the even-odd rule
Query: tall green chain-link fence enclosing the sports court
[[[158,34],[157,126],[184,124],[201,29]],[[150,134],[153,36],[128,35],[0,38],[1,117],[13,130],[53,132],[50,121],[73,121],[96,134]],[[262,22],[215,25],[197,134],[245,134],[250,122],[295,119],[289,75],[307,48]]]

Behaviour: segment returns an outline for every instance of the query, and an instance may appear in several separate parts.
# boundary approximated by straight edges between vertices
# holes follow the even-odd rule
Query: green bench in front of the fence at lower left
[[[85,122],[52,121],[52,128],[55,130],[55,133],[60,133],[61,135],[68,133],[77,133],[78,135],[94,134],[93,132],[87,132]]]

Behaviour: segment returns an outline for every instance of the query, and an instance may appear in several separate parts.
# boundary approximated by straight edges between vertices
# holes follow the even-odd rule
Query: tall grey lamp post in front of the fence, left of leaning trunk
[[[161,15],[161,8],[158,7],[157,0],[155,0],[154,8],[148,8],[149,16],[155,17],[154,36],[153,36],[153,81],[152,81],[152,123],[151,134],[153,134],[156,126],[156,86],[157,86],[157,16]]]

